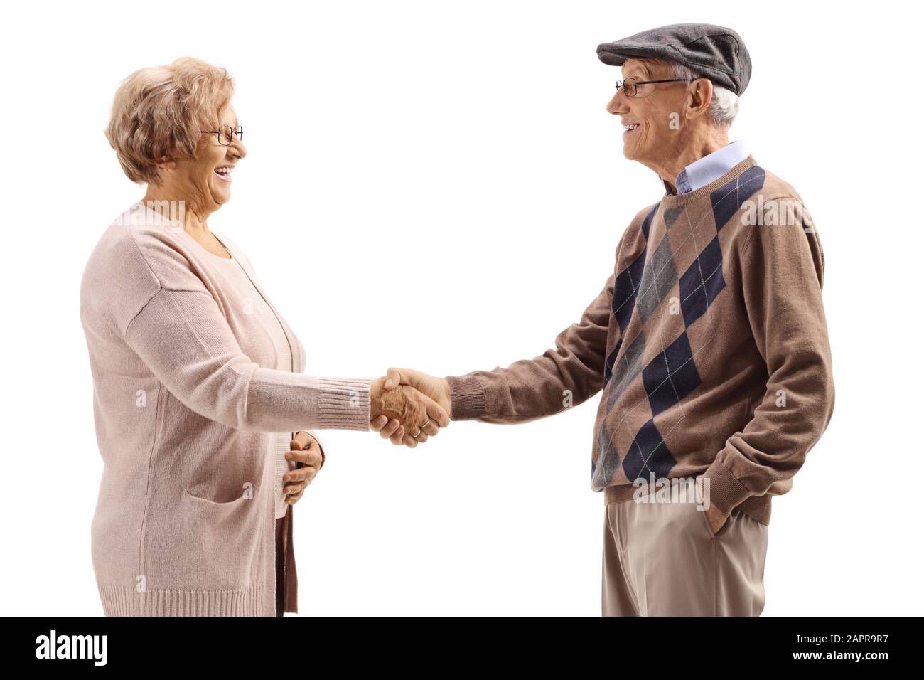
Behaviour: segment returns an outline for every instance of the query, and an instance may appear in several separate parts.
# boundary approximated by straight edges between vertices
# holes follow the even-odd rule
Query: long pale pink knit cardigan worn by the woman
[[[370,381],[302,375],[304,348],[281,315],[296,373],[263,367],[275,362],[270,333],[214,258],[134,204],[83,274],[106,615],[274,616],[271,433],[369,429]]]

